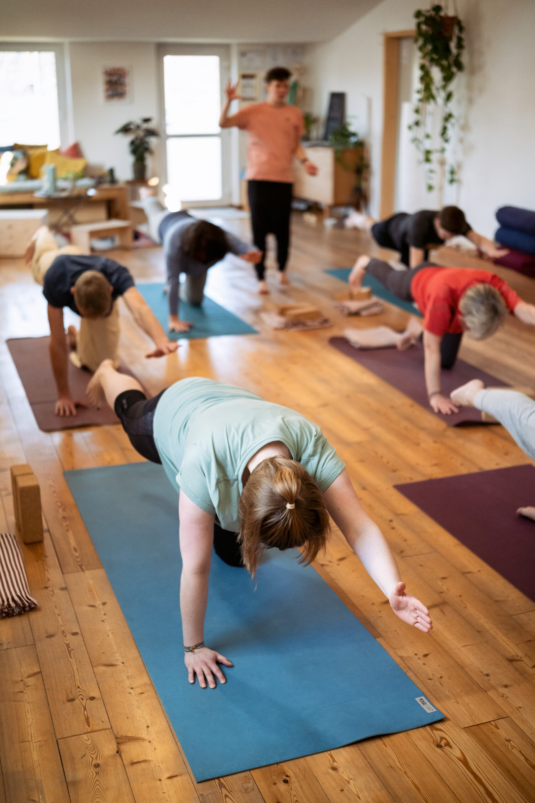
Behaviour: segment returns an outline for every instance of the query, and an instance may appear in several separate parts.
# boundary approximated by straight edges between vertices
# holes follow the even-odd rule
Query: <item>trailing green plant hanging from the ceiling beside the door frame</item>
[[[442,164],[448,175],[448,183],[458,181],[454,165],[445,165],[446,145],[452,136],[455,115],[451,104],[452,84],[456,75],[464,70],[462,53],[464,51],[464,26],[458,17],[448,17],[442,6],[432,6],[428,10],[415,11],[415,44],[419,51],[419,88],[416,91],[415,118],[409,125],[414,132],[414,143],[426,167],[428,192],[435,189],[435,162]],[[431,104],[442,106],[440,121],[440,146],[432,146],[431,125],[428,107]]]

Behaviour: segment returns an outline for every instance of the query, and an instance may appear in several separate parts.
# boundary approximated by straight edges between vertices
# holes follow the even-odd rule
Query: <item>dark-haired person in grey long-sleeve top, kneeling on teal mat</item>
[[[207,220],[193,218],[188,212],[169,212],[157,198],[144,198],[144,211],[152,239],[164,246],[165,267],[169,288],[169,322],[171,332],[187,332],[187,320],[180,320],[178,298],[198,306],[203,300],[209,268],[229,252],[246,262],[257,263],[262,253],[253,246],[214,226]],[[180,285],[180,274],[186,275]]]

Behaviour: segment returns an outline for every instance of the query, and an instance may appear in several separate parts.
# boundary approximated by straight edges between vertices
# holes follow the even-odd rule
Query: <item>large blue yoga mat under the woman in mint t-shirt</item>
[[[163,468],[65,476],[197,781],[443,719],[297,550],[268,552],[256,589],[213,554],[205,642],[234,668],[214,690],[190,685],[178,494]]]

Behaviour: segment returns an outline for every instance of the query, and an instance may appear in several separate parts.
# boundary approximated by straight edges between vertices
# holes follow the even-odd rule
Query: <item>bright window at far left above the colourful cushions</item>
[[[59,140],[55,51],[0,50],[0,145]]]

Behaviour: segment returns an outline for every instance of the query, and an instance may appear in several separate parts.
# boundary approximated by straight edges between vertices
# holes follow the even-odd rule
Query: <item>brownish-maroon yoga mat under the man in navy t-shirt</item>
[[[57,432],[77,426],[118,424],[119,418],[107,405],[103,405],[100,410],[89,405],[86,388],[93,374],[86,369],[76,368],[70,360],[68,371],[71,393],[80,402],[87,402],[88,406],[79,407],[78,414],[74,417],[60,418],[55,414],[58,392],[48,353],[49,340],[50,337],[16,337],[6,341],[39,429],[43,432]],[[131,373],[125,368],[120,368],[120,371]]]

